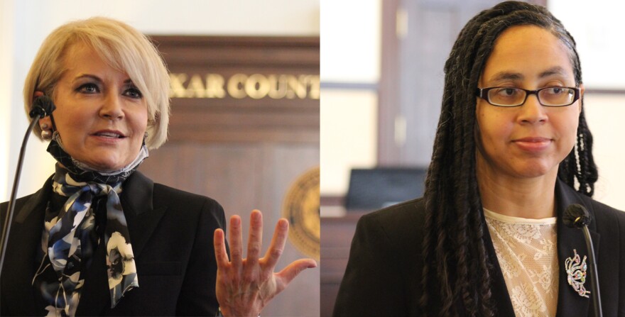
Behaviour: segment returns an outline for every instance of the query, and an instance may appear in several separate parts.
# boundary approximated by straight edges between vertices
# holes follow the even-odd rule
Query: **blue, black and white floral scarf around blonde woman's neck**
[[[111,308],[114,308],[126,291],[138,287],[130,235],[118,194],[126,177],[148,157],[148,150],[143,144],[134,162],[113,172],[98,172],[74,160],[62,148],[58,133],[53,135],[48,152],[62,164],[56,166],[53,191],[68,199],[59,212],[50,210],[48,204],[41,238],[44,256],[33,285],[40,289],[49,305],[45,308],[48,316],[75,316],[84,284],[82,270],[90,262],[94,246],[99,244],[99,236],[94,234],[96,208],[92,203],[105,196],[104,245]],[[54,275],[46,272],[50,269]]]

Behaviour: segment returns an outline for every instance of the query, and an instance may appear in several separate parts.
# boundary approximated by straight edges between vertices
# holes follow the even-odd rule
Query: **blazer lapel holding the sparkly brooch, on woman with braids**
[[[560,179],[555,185],[556,201],[558,202],[558,268],[560,269],[560,281],[558,282],[558,313],[556,316],[587,316],[589,313],[589,306],[591,299],[582,297],[568,284],[567,272],[565,267],[565,261],[567,257],[573,257],[573,250],[577,251],[577,254],[584,258],[588,255],[586,250],[586,241],[584,239],[584,233],[577,228],[569,228],[560,221],[562,219],[562,213],[570,204],[581,204],[588,209],[590,216],[594,219],[594,211],[592,205],[587,204],[576,191],[571,189],[567,184],[561,182]],[[592,245],[594,247],[595,259],[599,254],[599,234],[597,233],[596,224],[591,221],[588,226],[590,236],[592,238]],[[588,264],[588,259],[586,260]],[[590,291],[590,279],[591,270],[587,270],[586,282],[584,287]],[[592,294],[589,294],[592,296]]]

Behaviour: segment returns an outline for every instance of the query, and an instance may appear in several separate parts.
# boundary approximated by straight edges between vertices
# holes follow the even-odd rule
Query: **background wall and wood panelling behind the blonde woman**
[[[319,14],[317,0],[0,0],[0,201],[28,126],[22,87],[40,44],[63,23],[107,16],[151,36],[172,73],[168,143],[139,170],[216,199],[245,228],[259,208],[264,249],[278,218],[289,218],[278,269],[319,260]],[[31,136],[18,197],[53,174],[46,146]],[[300,274],[263,316],[320,316],[319,275]]]

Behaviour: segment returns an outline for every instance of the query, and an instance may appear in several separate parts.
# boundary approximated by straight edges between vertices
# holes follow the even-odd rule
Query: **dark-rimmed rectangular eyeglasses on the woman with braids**
[[[545,87],[528,90],[514,87],[478,88],[476,96],[488,101],[493,106],[516,107],[525,104],[528,96],[535,94],[543,106],[570,106],[580,99],[580,88],[577,87]]]

